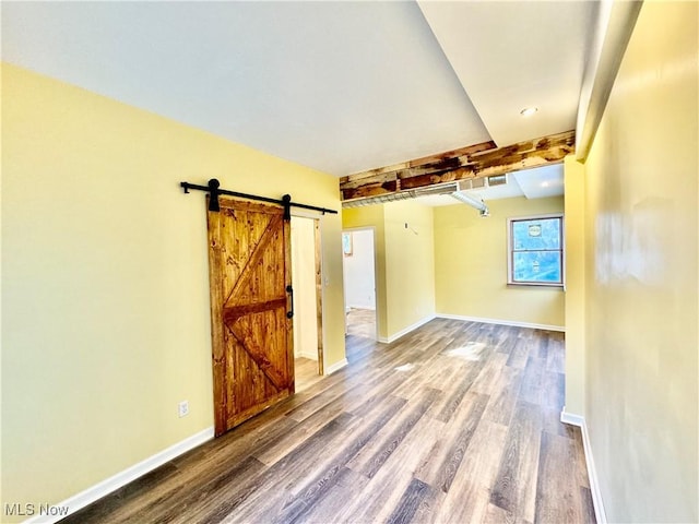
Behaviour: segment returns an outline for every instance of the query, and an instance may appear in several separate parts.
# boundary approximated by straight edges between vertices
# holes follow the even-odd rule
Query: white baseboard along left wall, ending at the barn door
[[[214,428],[213,426],[206,428],[187,439],[177,442],[176,444],[170,445],[169,448],[152,455],[144,461],[134,464],[127,469],[117,473],[116,475],[103,480],[95,486],[81,491],[78,495],[74,495],[62,502],[57,504],[51,504],[54,508],[63,508],[68,509],[68,511],[61,515],[36,515],[32,519],[25,521],[25,524],[54,524],[61,519],[64,519],[68,515],[75,513],[79,510],[82,510],[88,504],[102,499],[103,497],[116,491],[117,489],[126,486],[127,484],[135,480],[139,477],[142,477],[146,473],[152,472],[156,467],[162,466],[163,464],[171,461],[173,458],[186,453],[190,450],[193,450],[198,445],[203,444],[204,442],[214,438]]]

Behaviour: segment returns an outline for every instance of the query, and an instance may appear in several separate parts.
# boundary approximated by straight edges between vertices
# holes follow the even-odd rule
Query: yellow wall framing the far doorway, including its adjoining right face
[[[433,210],[415,201],[343,210],[343,228],[374,227],[379,337],[435,313]],[[408,227],[405,227],[405,224]]]

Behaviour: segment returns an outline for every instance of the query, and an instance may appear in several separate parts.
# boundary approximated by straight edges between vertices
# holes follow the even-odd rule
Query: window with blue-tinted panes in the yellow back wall
[[[564,285],[564,217],[508,219],[508,284]]]

